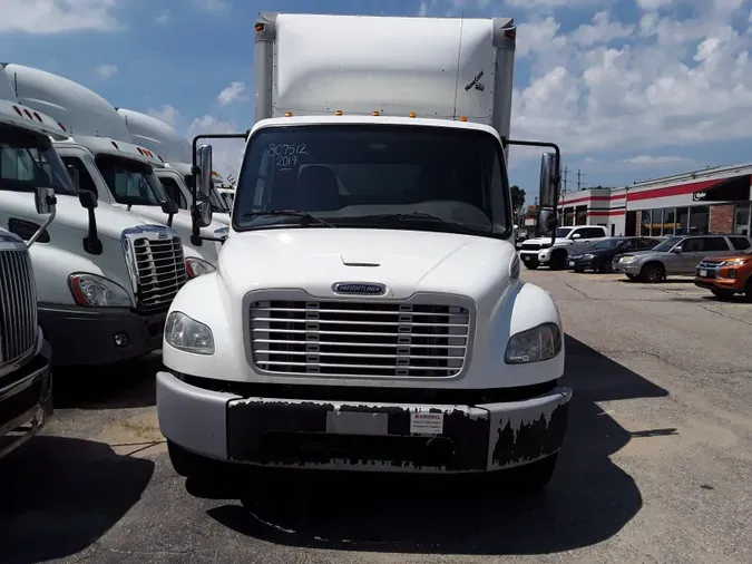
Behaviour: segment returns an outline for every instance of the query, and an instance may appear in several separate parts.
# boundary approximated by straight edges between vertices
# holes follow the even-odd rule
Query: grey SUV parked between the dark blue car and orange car
[[[752,246],[744,235],[675,235],[651,251],[617,255],[614,272],[624,272],[629,280],[662,282],[672,274],[695,274],[704,257],[724,257],[738,253],[739,245]]]

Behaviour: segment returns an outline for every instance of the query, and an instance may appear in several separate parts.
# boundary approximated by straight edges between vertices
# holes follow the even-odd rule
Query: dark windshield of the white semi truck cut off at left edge
[[[38,187],[76,195],[76,187],[49,137],[0,125],[0,189],[35,192]]]

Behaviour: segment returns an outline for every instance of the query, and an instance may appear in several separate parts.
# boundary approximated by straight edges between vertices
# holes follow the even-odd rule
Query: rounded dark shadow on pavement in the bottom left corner
[[[153,473],[153,461],[101,443],[35,437],[0,460],[0,561],[80,553],[138,502]]]

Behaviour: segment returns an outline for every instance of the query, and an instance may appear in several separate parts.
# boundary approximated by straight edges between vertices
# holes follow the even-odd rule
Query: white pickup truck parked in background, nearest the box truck
[[[576,225],[556,230],[556,240],[550,237],[528,239],[523,243],[519,256],[526,268],[535,270],[540,265],[551,270],[567,268],[567,257],[583,252],[608,236],[603,225]]]

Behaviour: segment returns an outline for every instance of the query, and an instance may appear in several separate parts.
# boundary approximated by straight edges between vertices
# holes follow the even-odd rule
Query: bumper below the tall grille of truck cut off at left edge
[[[0,377],[0,458],[37,435],[52,415],[52,349],[19,370]]]

